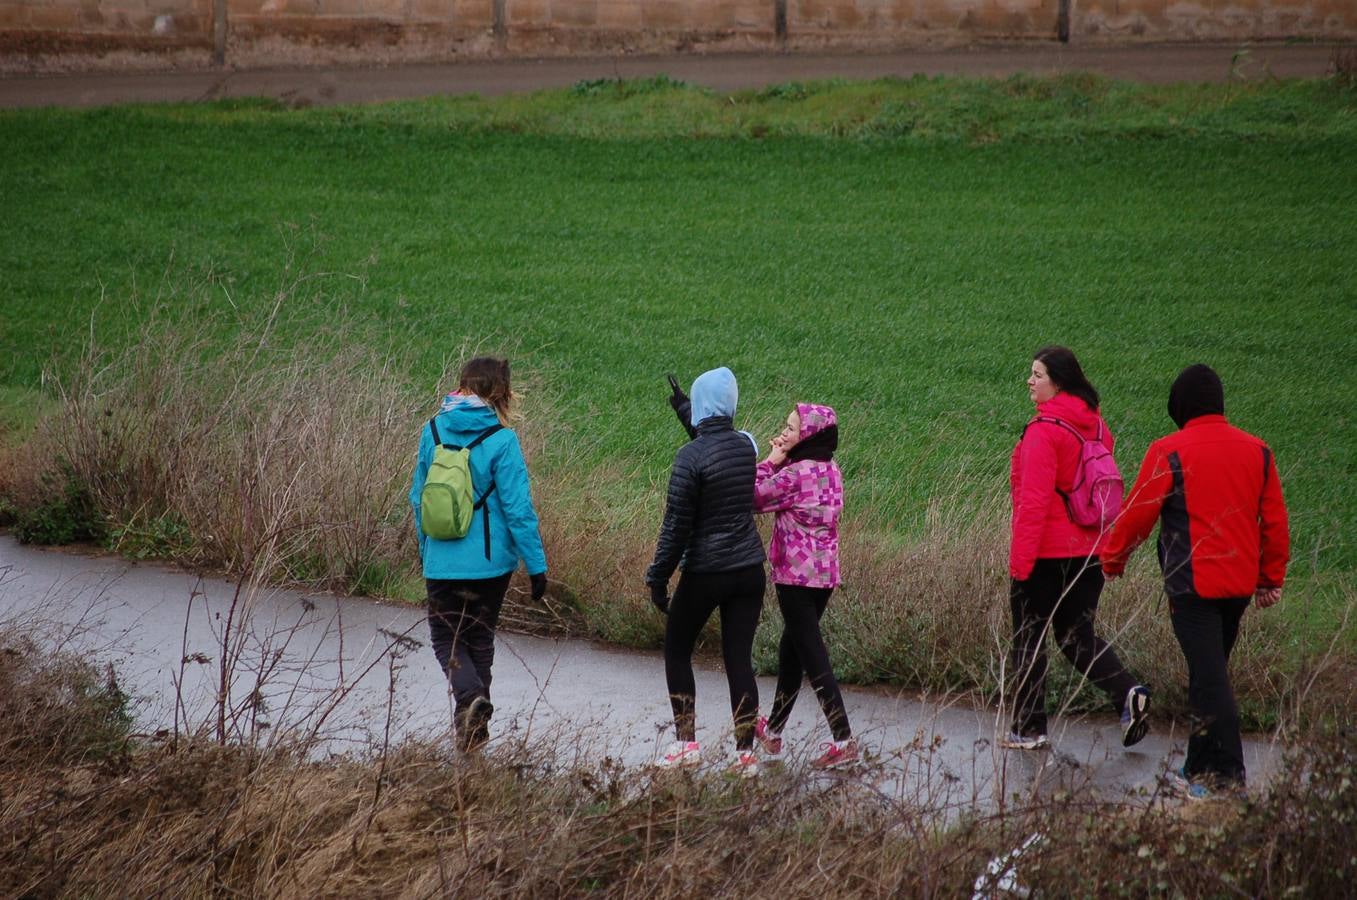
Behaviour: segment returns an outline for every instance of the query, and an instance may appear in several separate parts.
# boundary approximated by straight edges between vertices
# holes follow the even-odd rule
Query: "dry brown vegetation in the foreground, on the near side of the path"
[[[1357,876],[1343,733],[1244,802],[958,814],[852,776],[733,783],[543,749],[569,740],[324,762],[145,744],[95,669],[8,631],[0,705],[5,896],[997,896],[1006,873],[1039,896],[1346,896]]]

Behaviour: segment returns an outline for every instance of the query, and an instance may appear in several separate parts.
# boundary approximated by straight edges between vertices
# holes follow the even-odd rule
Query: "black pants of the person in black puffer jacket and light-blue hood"
[[[759,684],[754,681],[753,646],[759,611],[763,610],[763,565],[734,571],[684,573],[669,603],[665,624],[665,680],[680,741],[697,740],[697,686],[692,676],[692,649],[714,610],[721,610],[721,656],[730,684],[730,711],[735,721],[735,747],[754,745]]]

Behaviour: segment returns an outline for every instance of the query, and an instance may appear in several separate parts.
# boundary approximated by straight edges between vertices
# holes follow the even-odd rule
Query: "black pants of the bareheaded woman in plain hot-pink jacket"
[[[1118,713],[1136,679],[1106,641],[1094,634],[1094,615],[1102,595],[1102,565],[1096,557],[1038,559],[1026,581],[1014,580],[1008,604],[1014,615],[1010,676],[1014,683],[1014,732],[1046,733],[1048,629],[1061,653],[1111,698]]]

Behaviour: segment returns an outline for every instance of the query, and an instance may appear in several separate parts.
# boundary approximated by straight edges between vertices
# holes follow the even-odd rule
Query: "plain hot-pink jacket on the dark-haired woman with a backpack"
[[[1037,415],[1073,425],[1092,438],[1102,425],[1103,443],[1113,449],[1113,434],[1102,417],[1071,394],[1057,394],[1037,405]],[[1019,581],[1031,576],[1037,559],[1087,557],[1099,551],[1106,535],[1069,520],[1056,489],[1069,490],[1079,463],[1079,438],[1048,422],[1034,422],[1014,447],[1008,483],[1012,495],[1008,574]]]

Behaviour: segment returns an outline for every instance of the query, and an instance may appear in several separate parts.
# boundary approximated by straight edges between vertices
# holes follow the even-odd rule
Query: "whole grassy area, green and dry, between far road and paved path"
[[[285,529],[275,576],[411,596],[414,430],[449,365],[501,352],[555,578],[514,615],[653,645],[639,574],[680,440],[662,376],[726,364],[759,434],[795,399],[841,414],[841,672],[992,690],[1007,453],[1030,354],[1061,342],[1128,475],[1198,360],[1276,449],[1295,563],[1240,649],[1254,722],[1354,605],[1349,84],[653,80],[22,111],[0,133],[0,421],[22,445],[0,490],[35,536],[85,519],[240,570]],[[1171,706],[1151,557],[1105,618]]]

